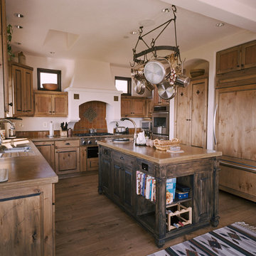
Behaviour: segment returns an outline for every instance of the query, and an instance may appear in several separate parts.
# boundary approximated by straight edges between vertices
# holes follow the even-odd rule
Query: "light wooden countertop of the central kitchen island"
[[[155,147],[135,146],[133,142],[112,142],[111,139],[97,142],[97,144],[107,146],[110,149],[115,149],[125,154],[137,156],[141,159],[152,161],[156,164],[171,164],[193,159],[222,156],[222,152],[220,151],[200,149],[195,146],[181,145],[181,149],[184,151],[184,153],[169,153],[158,150]]]

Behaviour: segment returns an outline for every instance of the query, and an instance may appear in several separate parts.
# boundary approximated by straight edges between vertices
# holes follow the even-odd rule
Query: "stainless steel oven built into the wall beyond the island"
[[[153,138],[161,135],[164,136],[163,139],[169,139],[169,105],[154,106],[152,133]]]

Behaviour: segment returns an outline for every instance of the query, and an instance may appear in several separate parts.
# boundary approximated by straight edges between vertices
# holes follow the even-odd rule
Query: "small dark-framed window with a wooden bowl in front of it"
[[[38,68],[38,90],[43,89],[43,83],[58,84],[57,91],[61,92],[61,70],[50,70],[46,68]]]

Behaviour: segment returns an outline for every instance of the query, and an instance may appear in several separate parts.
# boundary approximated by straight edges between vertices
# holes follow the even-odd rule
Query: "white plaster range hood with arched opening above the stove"
[[[85,102],[101,101],[106,105],[107,127],[121,117],[121,94],[114,86],[110,63],[96,60],[76,60],[68,92],[68,122],[72,127],[80,120],[79,106]]]

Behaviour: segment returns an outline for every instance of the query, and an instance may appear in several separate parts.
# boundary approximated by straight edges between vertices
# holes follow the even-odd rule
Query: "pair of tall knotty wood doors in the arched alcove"
[[[206,148],[208,78],[178,87],[175,101],[176,137],[181,144]]]

